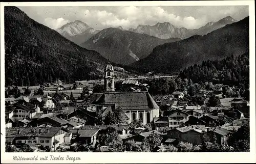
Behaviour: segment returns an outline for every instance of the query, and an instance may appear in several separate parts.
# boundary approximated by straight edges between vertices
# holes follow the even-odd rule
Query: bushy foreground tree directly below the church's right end
[[[155,131],[152,131],[150,135],[147,136],[145,139],[145,143],[150,148],[150,151],[153,152],[161,144],[162,136],[159,133],[156,133]]]

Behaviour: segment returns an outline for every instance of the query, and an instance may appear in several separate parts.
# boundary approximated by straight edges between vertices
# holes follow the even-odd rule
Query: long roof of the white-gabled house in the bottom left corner
[[[39,129],[41,130],[41,133],[39,133]],[[49,132],[47,133],[47,129]],[[44,136],[44,137],[52,137],[54,136],[61,127],[18,127],[16,130],[16,127],[6,128],[6,137],[20,137],[20,136]]]

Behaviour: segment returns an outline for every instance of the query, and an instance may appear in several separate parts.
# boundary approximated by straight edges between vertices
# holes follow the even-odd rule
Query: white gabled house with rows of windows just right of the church
[[[183,110],[175,110],[168,115],[169,127],[178,127],[188,121],[189,114]]]

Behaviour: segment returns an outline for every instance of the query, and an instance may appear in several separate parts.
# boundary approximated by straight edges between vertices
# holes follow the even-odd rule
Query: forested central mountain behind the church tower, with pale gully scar
[[[103,29],[80,46],[95,50],[102,57],[116,64],[128,65],[147,57],[157,45],[178,40],[181,39],[160,39],[118,28],[108,28]]]

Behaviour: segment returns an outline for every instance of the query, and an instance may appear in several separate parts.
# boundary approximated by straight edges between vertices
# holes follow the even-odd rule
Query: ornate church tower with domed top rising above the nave
[[[114,69],[111,64],[108,64],[105,69],[104,76],[105,92],[115,92],[115,77]]]

